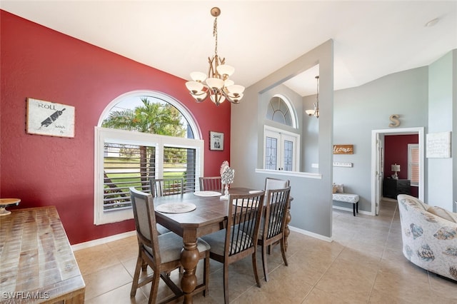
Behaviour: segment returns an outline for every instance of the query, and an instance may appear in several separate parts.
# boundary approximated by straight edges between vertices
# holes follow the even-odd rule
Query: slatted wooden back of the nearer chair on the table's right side
[[[229,195],[225,250],[227,256],[242,253],[256,246],[263,211],[264,192]],[[230,216],[233,215],[233,216]]]

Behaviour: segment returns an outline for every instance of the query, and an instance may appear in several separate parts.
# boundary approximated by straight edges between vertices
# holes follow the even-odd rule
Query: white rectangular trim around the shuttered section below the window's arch
[[[103,186],[104,186],[104,142],[106,140],[119,143],[144,144],[145,146],[156,146],[156,153],[163,153],[164,146],[196,149],[196,185],[199,184],[198,177],[204,170],[204,141],[201,139],[179,138],[157,134],[141,133],[136,131],[117,130],[112,128],[95,127],[94,130],[94,225],[116,223],[134,218],[131,208],[104,212],[103,208]],[[159,162],[160,170],[162,163]]]

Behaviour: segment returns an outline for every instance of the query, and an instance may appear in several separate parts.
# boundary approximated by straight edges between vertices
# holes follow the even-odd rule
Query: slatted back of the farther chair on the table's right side
[[[268,190],[266,192],[266,211],[263,226],[263,237],[273,238],[283,233],[286,225],[286,213],[291,187]]]

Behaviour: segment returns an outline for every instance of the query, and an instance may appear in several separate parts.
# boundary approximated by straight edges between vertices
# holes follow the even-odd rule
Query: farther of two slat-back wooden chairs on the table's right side
[[[266,254],[269,246],[280,243],[281,255],[284,264],[287,266],[286,258],[286,240],[284,238],[284,228],[286,228],[286,217],[288,200],[291,193],[291,187],[283,189],[275,189],[266,191],[267,203],[263,214],[265,215],[261,221],[261,228],[258,233],[257,245],[261,246],[262,250],[262,266],[263,276],[268,281],[268,265],[266,262]]]

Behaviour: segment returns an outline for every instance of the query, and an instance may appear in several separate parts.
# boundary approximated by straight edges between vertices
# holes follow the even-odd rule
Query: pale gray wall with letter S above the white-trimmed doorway
[[[333,156],[333,161],[353,163],[352,168],[334,167],[333,181],[360,196],[359,210],[371,212],[371,131],[388,129],[392,114],[400,116],[398,128],[427,126],[427,83],[425,66],[335,91],[333,143],[352,144],[354,153]],[[352,208],[347,203],[334,205]]]

